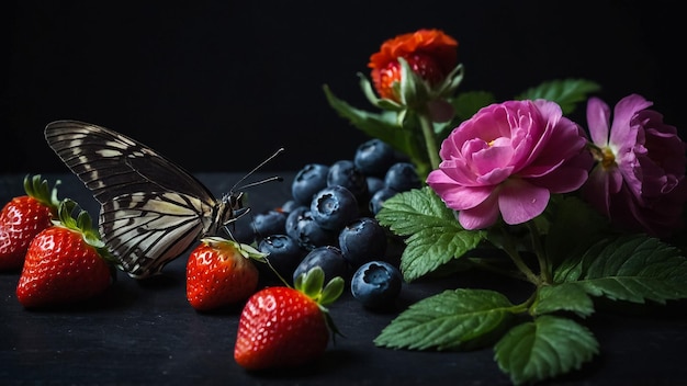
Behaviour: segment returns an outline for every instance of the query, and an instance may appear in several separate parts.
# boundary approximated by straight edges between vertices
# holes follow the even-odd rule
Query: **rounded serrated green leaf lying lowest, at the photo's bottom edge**
[[[599,344],[587,328],[547,315],[510,329],[494,347],[494,359],[520,385],[578,370],[598,352]]]

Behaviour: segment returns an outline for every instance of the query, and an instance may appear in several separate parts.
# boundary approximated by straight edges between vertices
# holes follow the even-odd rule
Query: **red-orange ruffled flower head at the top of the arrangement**
[[[430,86],[441,82],[458,64],[457,47],[458,42],[439,30],[419,30],[384,42],[368,65],[376,92],[399,101],[392,89],[393,82],[401,81],[399,57]]]

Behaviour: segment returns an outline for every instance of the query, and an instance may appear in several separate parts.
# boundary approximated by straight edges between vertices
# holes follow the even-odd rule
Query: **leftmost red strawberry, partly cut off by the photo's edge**
[[[55,186],[59,181],[55,183]],[[0,212],[0,271],[19,270],[31,240],[57,217],[57,189],[41,175],[24,178],[26,195],[12,198]]]

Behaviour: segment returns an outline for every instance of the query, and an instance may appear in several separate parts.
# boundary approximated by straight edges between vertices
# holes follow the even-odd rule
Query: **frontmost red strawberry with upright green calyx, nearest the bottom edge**
[[[319,266],[299,276],[295,288],[267,287],[255,293],[241,311],[234,359],[246,370],[306,364],[323,354],[337,333],[326,305],[344,292],[344,280],[323,290]]]

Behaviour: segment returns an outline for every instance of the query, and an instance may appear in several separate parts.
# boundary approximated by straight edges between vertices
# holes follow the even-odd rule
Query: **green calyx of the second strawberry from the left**
[[[77,212],[77,208],[78,213],[75,218],[72,214]],[[101,239],[98,230],[93,228],[91,216],[88,212],[81,209],[74,200],[65,198],[59,203],[57,207],[57,218],[58,219],[53,220],[55,226],[65,227],[81,234],[83,241],[93,247],[101,258],[109,263],[116,262],[116,259],[112,256],[105,246],[105,242]]]

